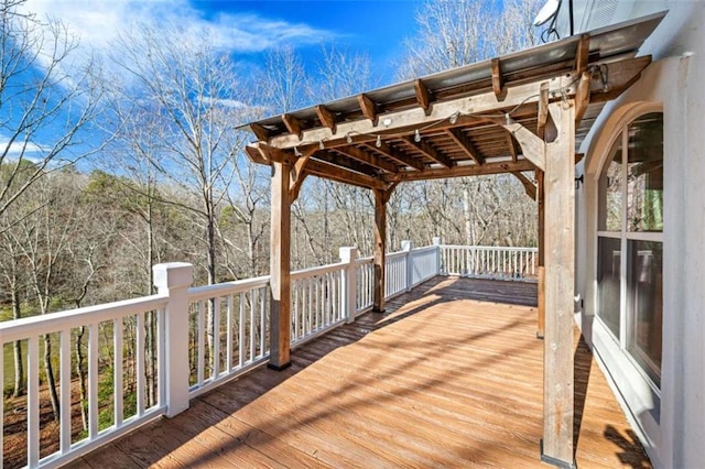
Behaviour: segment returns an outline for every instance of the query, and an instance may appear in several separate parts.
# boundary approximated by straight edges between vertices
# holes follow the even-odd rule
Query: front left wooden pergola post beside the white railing
[[[272,222],[270,236],[270,360],[268,367],[283,370],[291,364],[291,167],[272,163]]]

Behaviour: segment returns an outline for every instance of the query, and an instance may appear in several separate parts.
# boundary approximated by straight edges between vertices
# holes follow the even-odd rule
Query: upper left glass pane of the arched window
[[[599,177],[600,231],[621,231],[622,211],[621,135],[609,149],[609,160]]]

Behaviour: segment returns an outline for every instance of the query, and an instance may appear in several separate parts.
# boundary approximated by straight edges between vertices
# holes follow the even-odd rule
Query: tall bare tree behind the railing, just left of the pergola
[[[193,216],[193,239],[205,251],[208,284],[218,280],[219,207],[227,200],[235,156],[245,144],[245,135],[235,130],[245,113],[238,76],[230,56],[214,44],[206,32],[141,24],[119,39],[120,56],[113,57],[128,73],[123,98],[149,114],[158,140],[153,143],[159,151],[145,156],[164,181],[189,195],[161,200]],[[129,124],[123,129],[139,130]],[[214,304],[208,306],[208,350],[213,350]]]

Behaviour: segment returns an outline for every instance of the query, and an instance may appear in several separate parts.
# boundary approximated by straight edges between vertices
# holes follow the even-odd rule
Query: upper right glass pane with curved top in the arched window
[[[629,124],[627,230],[663,231],[663,114]]]

